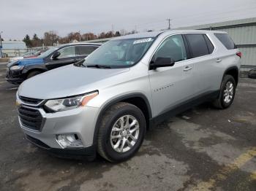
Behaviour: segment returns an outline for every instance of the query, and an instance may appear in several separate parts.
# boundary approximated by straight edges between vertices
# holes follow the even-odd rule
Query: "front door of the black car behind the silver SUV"
[[[52,59],[45,64],[47,69],[56,69],[61,66],[66,66],[77,62],[77,55],[75,54],[75,46],[63,47],[58,50],[61,54],[58,58]]]

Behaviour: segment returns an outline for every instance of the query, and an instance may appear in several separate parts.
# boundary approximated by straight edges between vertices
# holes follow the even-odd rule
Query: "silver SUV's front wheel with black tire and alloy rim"
[[[124,102],[110,106],[99,125],[98,153],[112,163],[127,160],[140,149],[145,133],[146,120],[137,106]]]

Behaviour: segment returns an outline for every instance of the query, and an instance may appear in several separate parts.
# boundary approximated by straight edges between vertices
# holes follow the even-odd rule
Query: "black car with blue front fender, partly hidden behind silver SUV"
[[[42,72],[81,61],[100,45],[95,43],[64,44],[50,48],[37,58],[13,61],[7,65],[6,79],[12,84],[20,84],[25,79]]]

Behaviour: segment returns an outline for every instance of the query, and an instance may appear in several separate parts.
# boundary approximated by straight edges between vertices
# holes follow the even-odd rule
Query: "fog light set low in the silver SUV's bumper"
[[[56,135],[56,141],[63,149],[83,147],[83,143],[77,134]]]

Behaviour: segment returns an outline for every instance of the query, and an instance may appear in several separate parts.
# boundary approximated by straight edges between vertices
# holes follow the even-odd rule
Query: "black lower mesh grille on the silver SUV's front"
[[[42,126],[42,115],[37,109],[24,106],[18,108],[21,125],[32,130],[40,130]]]

